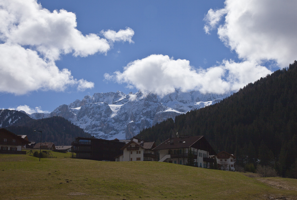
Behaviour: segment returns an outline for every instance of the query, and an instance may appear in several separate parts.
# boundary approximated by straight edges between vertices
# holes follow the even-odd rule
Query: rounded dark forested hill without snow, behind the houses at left
[[[16,111],[18,112],[18,111]],[[73,125],[63,117],[49,117],[34,120],[30,117],[26,120],[18,120],[13,126],[5,127],[17,135],[27,135],[29,141],[40,142],[40,133],[34,130],[42,130],[42,142],[53,142],[56,146],[71,145],[77,136],[91,137],[82,128]]]

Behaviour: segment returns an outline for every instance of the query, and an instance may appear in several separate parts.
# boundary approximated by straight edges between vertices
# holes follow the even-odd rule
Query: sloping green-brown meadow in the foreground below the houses
[[[50,196],[63,200],[221,200],[297,196],[297,191],[271,187],[238,172],[160,162],[98,162],[64,158],[70,153],[52,153],[57,158],[41,162],[28,154],[0,155],[1,199]],[[297,180],[290,179],[287,184],[297,185]]]

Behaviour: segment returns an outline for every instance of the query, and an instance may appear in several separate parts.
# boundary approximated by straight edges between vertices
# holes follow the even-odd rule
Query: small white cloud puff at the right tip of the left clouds
[[[107,30],[107,31],[101,31],[101,34],[108,40],[112,42],[119,42],[123,41],[126,42],[128,41],[129,43],[134,43],[132,41],[132,36],[134,35],[134,30],[131,28],[127,27],[126,30],[119,30],[118,32],[114,30]]]

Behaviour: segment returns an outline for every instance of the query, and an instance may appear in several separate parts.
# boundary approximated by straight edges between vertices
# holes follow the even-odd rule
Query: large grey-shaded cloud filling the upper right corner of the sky
[[[287,67],[297,55],[296,7],[297,1],[226,0],[225,8],[208,11],[204,30],[209,33],[225,14],[217,33],[240,59]]]

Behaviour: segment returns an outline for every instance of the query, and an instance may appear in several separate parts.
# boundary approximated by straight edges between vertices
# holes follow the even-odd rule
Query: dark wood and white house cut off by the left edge
[[[1,154],[26,154],[22,146],[30,142],[5,128],[0,128],[0,153]]]

